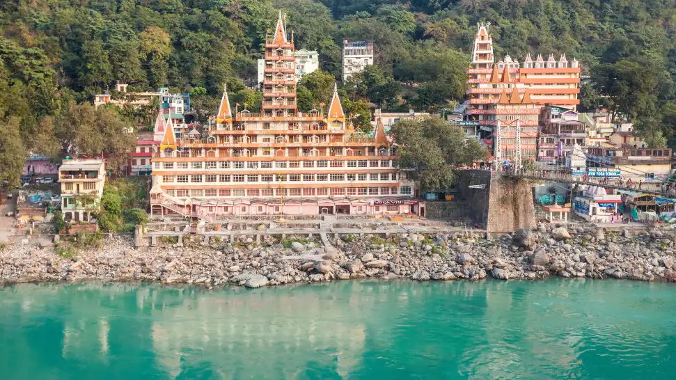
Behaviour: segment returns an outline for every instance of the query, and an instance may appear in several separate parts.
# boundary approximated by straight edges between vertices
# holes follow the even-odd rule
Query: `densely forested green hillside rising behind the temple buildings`
[[[676,0],[13,0],[0,2],[0,120],[8,131],[0,166],[26,149],[123,148],[125,141],[92,147],[72,138],[80,129],[109,136],[139,120],[131,111],[114,125],[96,121],[106,115],[84,120],[93,111],[72,104],[91,102],[116,79],[129,90],[190,92],[201,118],[215,110],[223,82],[233,102],[255,104],[260,97],[244,86],[278,10],[297,48],[317,49],[322,70],[336,78],[343,38],[375,42],[377,67],[343,92],[353,114],[367,101],[430,110],[461,101],[475,24],[484,20],[498,56],[565,52],[581,61],[591,78],[585,106],[638,119],[657,143],[676,126]],[[308,79],[301,106],[323,100],[331,79]],[[50,139],[56,144],[38,142]]]

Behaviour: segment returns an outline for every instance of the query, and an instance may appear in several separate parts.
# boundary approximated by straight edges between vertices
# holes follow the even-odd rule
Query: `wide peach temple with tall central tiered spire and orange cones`
[[[424,205],[397,168],[382,123],[355,131],[334,88],[328,109],[297,110],[294,41],[280,17],[265,44],[261,113],[224,89],[216,122],[177,136],[167,122],[152,159],[153,215],[408,214]],[[424,208],[423,208],[424,209]]]

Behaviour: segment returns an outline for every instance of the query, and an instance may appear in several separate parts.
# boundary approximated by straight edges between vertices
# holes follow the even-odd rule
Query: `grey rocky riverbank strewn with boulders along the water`
[[[184,246],[134,248],[130,240],[115,238],[101,248],[69,251],[69,257],[52,246],[10,245],[0,251],[0,283],[150,280],[260,287],[349,278],[676,278],[676,235],[629,235],[593,226],[540,225],[495,240],[463,234],[345,235],[322,245],[272,237],[256,244],[242,237],[233,244],[185,241]]]

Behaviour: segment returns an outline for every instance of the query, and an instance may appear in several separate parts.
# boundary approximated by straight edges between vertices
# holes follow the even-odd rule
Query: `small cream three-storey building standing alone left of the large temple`
[[[64,159],[58,167],[65,221],[90,221],[100,207],[106,168],[102,159]]]

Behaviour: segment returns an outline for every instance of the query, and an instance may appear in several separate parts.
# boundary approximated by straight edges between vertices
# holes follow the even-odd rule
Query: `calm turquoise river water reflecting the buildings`
[[[0,379],[673,379],[676,287],[0,288]]]

